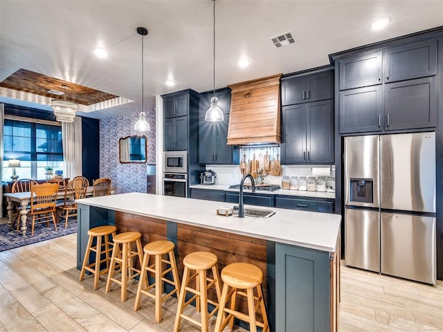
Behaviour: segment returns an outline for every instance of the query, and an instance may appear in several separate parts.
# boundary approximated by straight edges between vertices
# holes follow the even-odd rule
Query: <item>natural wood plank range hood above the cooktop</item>
[[[228,145],[281,142],[281,75],[228,85],[231,89]]]

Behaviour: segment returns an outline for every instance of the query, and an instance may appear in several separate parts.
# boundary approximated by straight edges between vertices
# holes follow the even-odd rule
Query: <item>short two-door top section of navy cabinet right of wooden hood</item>
[[[282,77],[282,106],[334,98],[334,72]]]

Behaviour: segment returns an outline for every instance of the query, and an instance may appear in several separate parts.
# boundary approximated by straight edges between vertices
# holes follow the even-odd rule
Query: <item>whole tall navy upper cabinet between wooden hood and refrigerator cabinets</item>
[[[334,71],[282,78],[281,163],[334,163]]]

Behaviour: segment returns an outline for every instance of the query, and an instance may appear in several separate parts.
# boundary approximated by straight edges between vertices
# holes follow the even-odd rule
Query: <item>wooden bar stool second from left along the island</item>
[[[136,251],[132,250],[132,243],[136,245]],[[120,249],[120,244],[122,248]],[[141,246],[141,233],[139,232],[124,232],[117,234],[114,237],[114,248],[111,256],[111,266],[109,268],[108,279],[106,283],[106,293],[111,291],[112,282],[116,282],[121,287],[121,302],[125,302],[127,299],[127,282],[130,279],[138,277],[141,270],[135,268],[132,264],[132,259],[138,257],[138,264],[142,264],[142,246]],[[119,270],[116,270],[116,264],[120,264]],[[117,266],[118,268],[118,266]],[[116,273],[121,273],[121,280],[114,278]]]

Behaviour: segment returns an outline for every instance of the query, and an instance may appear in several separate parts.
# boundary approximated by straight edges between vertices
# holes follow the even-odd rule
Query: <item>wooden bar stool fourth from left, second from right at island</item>
[[[208,331],[208,320],[219,308],[219,302],[221,297],[220,277],[219,270],[217,268],[217,256],[211,252],[192,252],[183,259],[183,265],[185,270],[183,271],[183,282],[181,283],[179,303],[177,306],[177,315],[175,317],[174,332],[179,331],[181,319],[184,318],[193,324],[201,327],[201,331]],[[210,279],[207,275],[207,270],[212,270],[213,278]],[[195,270],[195,273],[190,276],[190,270]],[[195,289],[190,288],[188,283],[195,279]],[[208,283],[209,282],[209,283]],[[217,292],[217,302],[208,299],[208,289],[215,286]],[[193,293],[194,295],[186,302],[186,292]],[[190,304],[194,299],[196,300],[197,311],[201,313],[201,322],[193,320],[183,314],[183,309]],[[215,308],[208,313],[208,303],[213,304]]]

